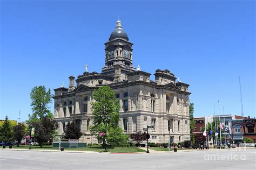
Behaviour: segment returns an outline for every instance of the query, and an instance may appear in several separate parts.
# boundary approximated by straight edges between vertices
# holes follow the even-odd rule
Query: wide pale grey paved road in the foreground
[[[1,169],[255,169],[256,149],[157,154],[0,150]]]

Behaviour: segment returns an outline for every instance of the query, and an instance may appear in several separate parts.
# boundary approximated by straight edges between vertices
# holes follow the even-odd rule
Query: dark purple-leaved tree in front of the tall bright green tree
[[[57,123],[48,117],[42,117],[41,121],[32,123],[35,127],[35,139],[38,144],[43,147],[43,143],[51,141],[58,128]]]

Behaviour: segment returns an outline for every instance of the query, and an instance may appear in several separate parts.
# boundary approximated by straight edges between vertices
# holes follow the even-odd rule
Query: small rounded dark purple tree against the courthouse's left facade
[[[79,139],[82,136],[82,132],[77,128],[74,122],[68,123],[64,132],[65,139]]]

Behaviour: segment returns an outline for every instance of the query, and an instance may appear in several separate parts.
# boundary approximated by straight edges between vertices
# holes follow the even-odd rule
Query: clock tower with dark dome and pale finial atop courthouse
[[[118,20],[109,41],[105,43],[105,66],[102,74],[115,77],[115,81],[126,80],[126,74],[136,70],[132,65],[132,45]]]

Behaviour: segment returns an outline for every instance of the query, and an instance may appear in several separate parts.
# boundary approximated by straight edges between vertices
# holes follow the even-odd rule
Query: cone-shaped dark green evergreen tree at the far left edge
[[[8,116],[6,116],[0,130],[0,140],[4,142],[10,142],[13,139],[14,132],[12,130],[12,125]]]

